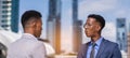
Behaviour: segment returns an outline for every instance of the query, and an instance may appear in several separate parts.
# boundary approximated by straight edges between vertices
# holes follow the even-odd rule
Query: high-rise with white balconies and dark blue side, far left
[[[18,0],[0,0],[0,27],[18,31]]]

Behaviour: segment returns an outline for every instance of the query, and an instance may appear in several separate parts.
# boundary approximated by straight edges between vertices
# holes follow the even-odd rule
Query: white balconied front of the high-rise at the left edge
[[[11,30],[11,0],[0,0],[0,27]]]

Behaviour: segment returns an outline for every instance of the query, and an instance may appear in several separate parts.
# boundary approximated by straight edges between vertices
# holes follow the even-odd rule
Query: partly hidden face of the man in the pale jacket
[[[42,21],[41,21],[41,18],[40,18],[40,19],[37,20],[37,24],[36,24],[36,27],[35,27],[35,35],[37,38],[40,37],[41,30],[42,30]]]

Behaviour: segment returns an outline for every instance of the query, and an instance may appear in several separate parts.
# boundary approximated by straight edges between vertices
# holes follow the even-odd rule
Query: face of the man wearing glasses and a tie
[[[89,17],[83,26],[88,38],[94,37],[100,31],[100,24],[92,17]]]

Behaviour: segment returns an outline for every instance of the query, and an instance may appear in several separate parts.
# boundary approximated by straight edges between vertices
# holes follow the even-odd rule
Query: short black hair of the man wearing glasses
[[[103,16],[98,15],[98,14],[90,14],[90,15],[88,16],[88,18],[89,18],[89,17],[92,17],[92,18],[94,18],[96,21],[99,21],[99,23],[101,24],[101,29],[103,29],[103,28],[105,27],[105,19],[104,19]]]

